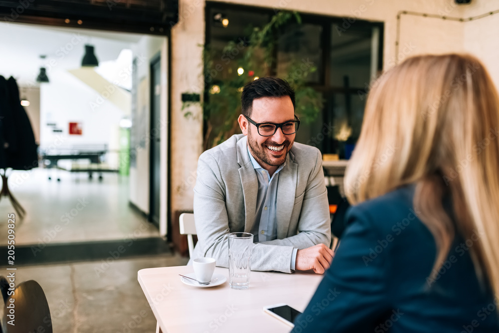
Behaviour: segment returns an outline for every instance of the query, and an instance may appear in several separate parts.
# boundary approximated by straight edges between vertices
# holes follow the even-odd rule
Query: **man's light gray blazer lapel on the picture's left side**
[[[241,177],[245,198],[245,232],[251,232],[254,224],[256,196],[258,194],[258,179],[248,155],[248,138],[246,136],[238,141],[237,151],[238,163],[241,166],[239,168],[239,176]]]

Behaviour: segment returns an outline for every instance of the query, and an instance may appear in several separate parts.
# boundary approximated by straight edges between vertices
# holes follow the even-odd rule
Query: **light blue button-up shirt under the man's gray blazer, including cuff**
[[[253,227],[251,228],[251,233],[254,235],[253,242],[259,243],[274,240],[277,239],[277,183],[279,180],[279,171],[286,165],[286,162],[281,164],[270,177],[268,171],[262,168],[253,158],[249,146],[248,155],[258,179],[256,210]],[[297,252],[298,249],[294,248],[291,256],[291,270],[295,268]]]

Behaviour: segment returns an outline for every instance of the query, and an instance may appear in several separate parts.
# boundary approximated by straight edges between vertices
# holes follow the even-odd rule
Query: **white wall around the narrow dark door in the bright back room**
[[[132,126],[140,127],[139,140],[144,142],[142,146],[130,147],[136,152],[136,166],[130,166],[130,201],[135,204],[140,210],[149,213],[149,135],[150,132],[150,62],[159,52],[161,52],[161,128],[160,138],[161,147],[161,202],[164,202],[164,207],[160,211],[160,233],[166,234],[166,202],[167,202],[167,49],[168,40],[166,37],[155,37],[145,35],[140,41],[132,46],[133,56],[137,58],[137,122]],[[163,147],[164,146],[164,147]]]

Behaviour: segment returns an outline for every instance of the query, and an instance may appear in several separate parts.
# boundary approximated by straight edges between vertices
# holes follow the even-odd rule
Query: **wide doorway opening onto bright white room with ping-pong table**
[[[19,261],[107,258],[122,243],[130,256],[156,251],[155,242],[168,252],[166,232],[160,234],[158,224],[147,219],[150,142],[154,145],[159,132],[167,131],[153,125],[157,129],[149,136],[151,91],[155,115],[168,114],[166,82],[160,91],[151,82],[160,77],[159,55],[166,77],[167,36],[1,22],[0,32],[0,44],[8,50],[0,75],[15,77],[40,158],[38,168],[16,169],[9,177],[10,190],[26,211],[22,220],[16,216],[16,245],[25,249],[19,250]],[[82,64],[87,45],[97,59],[92,66]],[[46,69],[43,81],[37,81],[40,67]],[[158,161],[161,154],[154,151],[153,161]],[[154,180],[158,188],[166,184],[162,177],[162,183]],[[161,202],[166,209],[166,200]],[[12,209],[8,200],[0,201],[1,212]],[[6,224],[0,223],[4,233]],[[132,241],[133,250],[128,248]],[[0,252],[6,245],[6,238],[0,240]]]

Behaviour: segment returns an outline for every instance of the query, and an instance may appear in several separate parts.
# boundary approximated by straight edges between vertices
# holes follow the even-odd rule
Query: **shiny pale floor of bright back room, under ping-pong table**
[[[56,173],[61,181],[48,180]],[[87,173],[36,168],[13,171],[8,183],[26,210],[22,220],[16,218],[17,245],[124,239],[134,232],[136,237],[159,236],[158,229],[129,206],[127,176],[104,173],[100,182],[97,175],[90,180]],[[1,216],[12,212],[8,198],[2,197],[0,235],[7,232]],[[7,238],[0,237],[0,246],[6,243]]]

